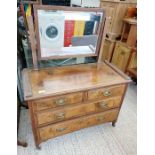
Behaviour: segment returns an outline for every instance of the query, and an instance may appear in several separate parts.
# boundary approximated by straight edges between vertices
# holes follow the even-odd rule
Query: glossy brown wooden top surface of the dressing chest
[[[127,83],[105,63],[24,69],[22,73],[25,100]]]

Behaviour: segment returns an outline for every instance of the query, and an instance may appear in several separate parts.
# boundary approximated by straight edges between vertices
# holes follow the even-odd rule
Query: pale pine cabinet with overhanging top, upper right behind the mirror
[[[100,7],[105,9],[106,16],[110,17],[107,28],[107,37],[115,40],[121,36],[123,18],[126,15],[127,8],[136,6],[136,0],[101,0]]]

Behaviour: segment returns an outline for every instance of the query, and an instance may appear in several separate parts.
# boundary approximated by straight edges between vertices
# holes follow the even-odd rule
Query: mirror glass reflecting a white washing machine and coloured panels
[[[38,10],[41,58],[95,54],[102,12]]]

